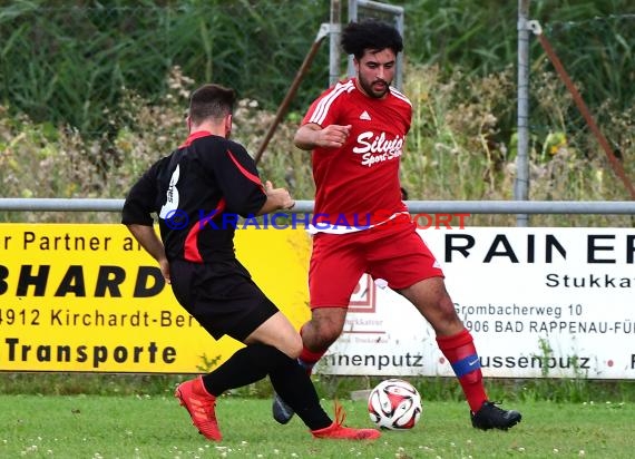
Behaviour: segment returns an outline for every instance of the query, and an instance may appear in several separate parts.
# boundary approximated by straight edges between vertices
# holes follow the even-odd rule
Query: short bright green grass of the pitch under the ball
[[[331,400],[323,407],[332,413]],[[370,426],[365,403],[343,400],[346,424]],[[294,418],[271,419],[266,399],[224,397],[222,442],[205,440],[165,395],[0,395],[1,458],[632,458],[635,404],[506,403],[514,429],[475,430],[465,403],[423,401],[419,424],[374,442],[313,439]]]

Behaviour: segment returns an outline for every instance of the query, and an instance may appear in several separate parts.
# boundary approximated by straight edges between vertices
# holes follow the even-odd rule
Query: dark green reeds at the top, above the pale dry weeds
[[[341,3],[345,18],[346,2]],[[485,77],[516,62],[516,1],[391,3],[404,8],[412,64],[436,65],[448,78],[456,70]],[[0,100],[35,121],[101,131],[105,115],[120,121],[114,107],[126,89],[157,101],[169,89],[166,76],[179,66],[197,82],[231,84],[273,109],[329,10],[329,0],[8,2],[0,7]],[[619,108],[633,105],[633,2],[534,0],[530,13],[592,105],[607,98]],[[362,8],[360,16],[369,12]],[[533,51],[544,59],[537,42]],[[294,108],[303,110],[326,82],[322,52]]]

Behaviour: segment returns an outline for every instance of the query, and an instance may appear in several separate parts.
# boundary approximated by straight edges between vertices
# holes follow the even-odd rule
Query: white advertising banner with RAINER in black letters
[[[635,230],[420,232],[485,377],[635,379]],[[407,300],[362,276],[319,372],[453,375]]]

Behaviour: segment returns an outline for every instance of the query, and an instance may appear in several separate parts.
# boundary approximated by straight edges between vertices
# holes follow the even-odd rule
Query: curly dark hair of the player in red
[[[395,55],[403,50],[403,40],[399,31],[389,23],[375,19],[350,22],[342,30],[342,48],[355,59],[361,59],[367,49],[381,51],[391,49]]]

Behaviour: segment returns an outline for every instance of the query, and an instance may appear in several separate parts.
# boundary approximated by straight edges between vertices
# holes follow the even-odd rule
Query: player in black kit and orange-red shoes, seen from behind
[[[175,397],[207,439],[219,441],[216,399],[224,391],[270,377],[315,438],[364,440],[375,429],[344,427],[341,407],[333,421],[297,365],[302,339],[252,281],[234,253],[228,216],[264,215],[293,207],[284,188],[262,184],[255,163],[229,140],[235,92],[204,85],[189,101],[189,136],[156,162],[127,195],[121,222],[158,262],[178,303],[215,339],[245,344],[211,373],[185,381]],[[160,238],[154,231],[158,215]]]

